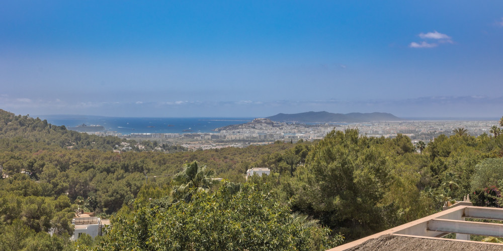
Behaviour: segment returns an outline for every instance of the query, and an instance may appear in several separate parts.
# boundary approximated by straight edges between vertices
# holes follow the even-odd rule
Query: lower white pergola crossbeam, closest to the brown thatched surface
[[[428,230],[503,237],[503,225],[464,220],[431,219]]]

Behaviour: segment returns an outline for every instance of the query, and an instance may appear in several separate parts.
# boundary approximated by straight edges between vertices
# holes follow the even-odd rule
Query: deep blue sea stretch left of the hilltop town
[[[129,134],[180,134],[180,133],[215,133],[212,130],[230,124],[246,123],[251,117],[105,117],[90,115],[39,115],[40,119],[66,128],[82,123],[87,126],[99,125],[107,131]],[[184,130],[186,132],[184,132]],[[187,132],[191,131],[191,132]]]

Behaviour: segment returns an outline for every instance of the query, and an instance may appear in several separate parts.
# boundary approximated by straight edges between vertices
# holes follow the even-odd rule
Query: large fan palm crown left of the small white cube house
[[[213,184],[215,171],[208,169],[206,165],[199,166],[197,161],[185,163],[184,169],[173,177],[178,185],[173,187],[172,193],[175,198],[187,199],[191,197],[191,189],[196,192],[207,191]]]

